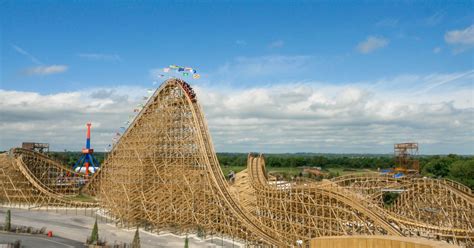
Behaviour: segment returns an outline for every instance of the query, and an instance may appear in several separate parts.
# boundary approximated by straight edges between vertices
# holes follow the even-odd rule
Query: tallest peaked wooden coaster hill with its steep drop
[[[205,229],[285,246],[235,201],[202,110],[181,80],[160,86],[104,162],[96,195],[124,225]]]

